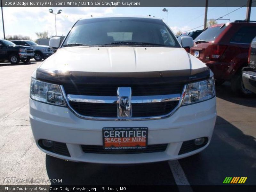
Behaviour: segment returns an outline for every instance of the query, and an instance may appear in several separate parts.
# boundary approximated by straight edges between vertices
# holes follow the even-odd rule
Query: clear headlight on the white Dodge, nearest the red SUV
[[[215,97],[214,78],[188,84],[182,105],[197,103]]]

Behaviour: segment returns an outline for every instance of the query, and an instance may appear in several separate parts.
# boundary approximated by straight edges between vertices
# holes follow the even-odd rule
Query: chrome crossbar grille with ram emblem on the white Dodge
[[[134,96],[132,87],[117,87],[116,95],[107,96],[70,94],[61,85],[68,107],[79,117],[97,120],[145,120],[172,115],[180,106],[183,92]],[[74,90],[74,89],[73,89]],[[79,89],[77,89],[79,92]],[[76,92],[76,93],[77,93]],[[81,92],[79,92],[81,93]]]

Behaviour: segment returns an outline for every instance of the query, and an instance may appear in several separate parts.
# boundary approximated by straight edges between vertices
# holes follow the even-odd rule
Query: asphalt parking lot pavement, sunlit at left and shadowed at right
[[[246,185],[256,184],[256,97],[240,98],[228,83],[217,87],[213,138],[197,155],[136,165],[73,163],[46,156],[36,147],[28,116],[30,76],[40,63],[0,63],[1,185],[28,184],[5,178],[62,179],[33,183],[42,185],[176,185],[179,176],[190,185],[222,185],[225,177],[248,177]]]

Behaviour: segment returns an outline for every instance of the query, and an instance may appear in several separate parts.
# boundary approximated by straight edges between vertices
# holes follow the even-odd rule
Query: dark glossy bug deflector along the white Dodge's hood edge
[[[188,83],[210,77],[208,67],[198,69],[153,71],[153,72],[83,72],[49,71],[37,68],[36,79],[56,84],[161,84]]]

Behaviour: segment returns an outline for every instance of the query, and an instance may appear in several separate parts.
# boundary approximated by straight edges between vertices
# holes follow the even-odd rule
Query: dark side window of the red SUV
[[[256,27],[242,27],[231,38],[230,43],[246,43],[250,44],[252,39],[256,36]]]

